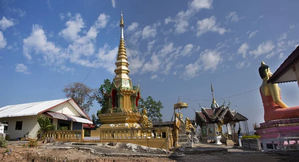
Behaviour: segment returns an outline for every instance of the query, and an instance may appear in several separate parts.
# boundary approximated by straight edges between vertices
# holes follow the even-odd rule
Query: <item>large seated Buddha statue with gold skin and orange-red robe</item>
[[[265,122],[278,119],[290,119],[299,117],[299,106],[289,107],[281,98],[281,89],[278,84],[267,83],[270,77],[273,75],[269,66],[261,63],[259,73],[263,79],[263,83],[260,87],[260,93],[264,105],[264,119]]]

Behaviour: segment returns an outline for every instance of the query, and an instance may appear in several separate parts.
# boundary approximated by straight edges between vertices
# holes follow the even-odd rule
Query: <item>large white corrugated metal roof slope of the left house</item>
[[[70,98],[4,106],[0,108],[0,118],[37,115],[39,112],[45,111],[68,99]]]

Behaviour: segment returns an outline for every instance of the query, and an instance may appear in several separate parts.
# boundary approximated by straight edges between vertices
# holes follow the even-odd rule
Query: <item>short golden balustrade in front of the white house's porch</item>
[[[54,130],[48,131],[46,137],[55,139],[84,140],[84,130]]]

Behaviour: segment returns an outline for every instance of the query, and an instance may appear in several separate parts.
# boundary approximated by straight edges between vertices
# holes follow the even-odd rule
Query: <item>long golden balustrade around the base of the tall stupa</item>
[[[168,137],[168,127],[111,129],[111,130],[105,129],[105,131],[104,130],[101,131],[101,139],[143,139],[143,138],[167,138],[167,137]]]

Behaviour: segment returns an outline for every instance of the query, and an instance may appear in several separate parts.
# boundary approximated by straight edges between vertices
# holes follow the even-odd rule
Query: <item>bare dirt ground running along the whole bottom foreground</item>
[[[12,149],[7,154],[6,149]],[[155,157],[108,157],[97,156],[89,150],[43,149],[9,145],[0,148],[0,162],[298,162],[298,153],[290,155],[265,154],[262,152],[229,152],[185,155],[181,158]]]

